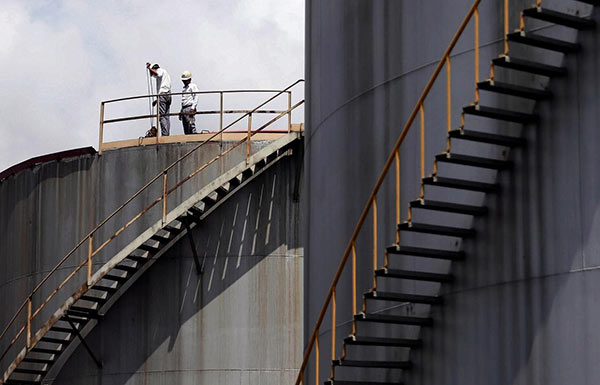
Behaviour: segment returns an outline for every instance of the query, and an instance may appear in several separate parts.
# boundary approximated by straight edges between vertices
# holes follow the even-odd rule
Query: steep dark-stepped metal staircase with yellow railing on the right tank
[[[600,5],[600,1],[597,0],[583,0],[584,3],[593,5]],[[483,131],[473,131],[465,129],[465,120],[467,116],[477,116],[486,119],[500,120],[510,123],[518,124],[536,124],[539,117],[534,112],[520,112],[506,108],[498,108],[493,106],[483,106],[479,103],[479,93],[490,92],[507,95],[509,97],[529,99],[534,101],[546,100],[552,98],[552,93],[547,89],[532,88],[520,84],[510,84],[500,82],[495,79],[494,67],[503,67],[509,71],[525,72],[529,74],[541,75],[545,77],[564,77],[567,76],[566,68],[553,66],[546,63],[542,63],[536,60],[529,60],[525,57],[513,57],[509,55],[509,43],[520,44],[530,47],[542,48],[545,50],[552,50],[563,54],[569,54],[577,52],[581,49],[578,43],[570,41],[557,40],[548,38],[538,34],[530,33],[525,31],[525,22],[527,19],[542,20],[547,23],[561,25],[563,27],[576,29],[576,30],[587,30],[595,27],[595,22],[590,19],[557,12],[554,10],[546,9],[542,7],[541,1],[538,1],[532,8],[524,9],[520,15],[520,29],[516,32],[508,31],[508,1],[505,1],[505,52],[499,57],[491,60],[490,77],[485,81],[479,81],[478,73],[475,74],[475,101],[462,109],[461,124],[458,129],[452,129],[450,127],[450,56],[449,53],[458,37],[462,34],[464,27],[471,18],[475,20],[475,70],[478,72],[478,23],[479,14],[478,6],[480,1],[475,1],[469,13],[465,17],[459,31],[454,37],[448,50],[440,60],[438,67],[436,68],[432,78],[428,85],[425,87],[421,98],[417,102],[404,130],[402,131],[396,146],[394,147],[391,155],[389,156],[380,177],[373,188],[373,192],[369,197],[369,200],[362,212],[362,215],[356,225],[352,238],[347,244],[345,253],[340,262],[338,271],[336,272],[330,290],[327,294],[321,312],[318,316],[316,325],[314,326],[311,338],[308,341],[308,346],[304,355],[304,360],[300,367],[296,385],[304,384],[307,381],[307,377],[311,378],[311,382],[314,383],[322,382],[320,372],[320,364],[323,362],[321,356],[322,342],[320,339],[323,335],[329,334],[328,338],[331,338],[331,374],[329,378],[324,382],[327,385],[392,385],[399,384],[399,379],[402,376],[403,371],[411,370],[413,363],[411,362],[411,353],[413,349],[421,349],[423,342],[419,337],[421,331],[418,328],[432,328],[435,327],[435,320],[429,316],[424,316],[423,313],[428,313],[427,306],[443,306],[444,298],[442,295],[431,293],[431,286],[425,286],[424,284],[415,284],[423,282],[433,282],[443,285],[452,282],[455,277],[448,273],[450,269],[444,269],[445,271],[424,271],[422,268],[419,269],[407,269],[405,266],[408,264],[402,264],[403,259],[410,258],[427,258],[446,260],[450,263],[454,261],[463,261],[465,259],[465,253],[460,250],[451,249],[433,249],[424,247],[422,245],[415,246],[409,244],[405,239],[409,238],[411,242],[414,242],[414,237],[406,237],[407,233],[419,233],[421,234],[419,244],[435,243],[434,240],[439,240],[440,236],[450,237],[454,239],[459,245],[459,240],[473,238],[476,240],[477,233],[473,228],[464,228],[457,225],[439,225],[429,224],[424,222],[418,222],[414,220],[413,213],[417,214],[417,211],[430,211],[433,214],[444,213],[444,218],[448,218],[450,215],[467,215],[471,217],[484,216],[488,214],[488,208],[486,206],[471,205],[471,204],[458,204],[450,201],[439,201],[430,200],[426,198],[426,187],[437,186],[442,188],[444,197],[451,198],[460,191],[476,191],[488,194],[494,194],[500,192],[500,185],[497,183],[490,183],[488,181],[467,180],[467,179],[456,179],[450,176],[440,175],[438,171],[438,165],[442,163],[453,164],[454,167],[463,168],[462,175],[475,175],[471,170],[474,169],[487,169],[494,171],[507,170],[514,167],[513,163],[507,159],[507,150],[510,148],[525,146],[526,142],[523,138],[518,136],[492,134]],[[429,90],[433,82],[435,82],[438,74],[441,72],[442,67],[446,66],[448,69],[448,130],[447,130],[447,148],[444,152],[435,155],[433,164],[433,173],[429,176],[425,176],[425,146],[424,146],[424,101],[427,97]],[[403,142],[406,132],[411,127],[411,124],[420,115],[421,117],[421,178],[420,178],[420,196],[409,202],[408,218],[407,220],[400,222],[400,189],[399,189],[399,153],[400,146]],[[489,145],[499,146],[504,149],[502,158],[489,157],[489,156],[473,156],[455,153],[452,151],[453,141],[468,141],[471,142],[471,148],[477,146]],[[485,152],[484,152],[485,153]],[[392,168],[393,163],[396,163],[396,240],[397,243],[389,246],[385,250],[383,256],[379,255],[377,251],[377,193],[383,183],[383,180],[388,175],[388,171]],[[393,173],[389,173],[393,174]],[[393,177],[392,177],[393,178]],[[439,199],[439,195],[437,197]],[[366,293],[362,294],[362,309],[359,309],[356,305],[357,295],[357,240],[358,235],[361,232],[363,224],[367,221],[367,216],[371,214],[373,222],[371,223],[370,231],[372,234],[372,287]],[[417,214],[418,215],[418,214]],[[432,218],[431,213],[429,218]],[[464,221],[463,221],[464,223]],[[367,236],[369,236],[367,234]],[[363,238],[364,239],[364,238]],[[430,242],[431,241],[431,242]],[[364,247],[363,247],[364,249]],[[383,257],[383,258],[382,258]],[[466,256],[468,258],[468,256]],[[344,271],[350,270],[345,269],[346,266],[350,265],[348,261],[352,260],[352,331],[351,333],[343,338],[341,346],[336,346],[336,329],[340,328],[339,321],[337,320],[339,310],[338,300],[342,294],[341,287],[347,289],[348,281],[342,283],[340,277]],[[383,260],[383,266],[381,261]],[[396,268],[395,266],[402,265],[403,268]],[[415,264],[415,266],[418,264]],[[446,265],[447,267],[448,265]],[[346,286],[344,286],[346,285]],[[383,286],[387,288],[400,288],[397,291],[384,291],[380,289]],[[422,290],[422,292],[420,292]],[[438,290],[440,290],[438,288]],[[439,293],[439,291],[438,291]],[[380,303],[385,303],[385,306],[381,306]],[[396,312],[393,314],[393,309],[410,308],[413,306],[420,306],[421,313],[419,316],[410,315],[409,311],[402,314]],[[331,327],[327,330],[323,330],[324,320],[326,317],[331,322]],[[342,324],[343,325],[343,324]],[[390,333],[390,325],[395,325],[397,329],[394,331],[406,330],[405,332],[394,332]],[[402,329],[405,328],[405,329]],[[413,328],[413,329],[410,329]],[[377,335],[375,335],[377,334]],[[394,338],[383,337],[383,335],[391,336]],[[402,338],[395,338],[402,337]],[[401,348],[401,349],[400,349]],[[375,349],[375,350],[374,350]],[[341,351],[341,355],[338,352]],[[313,360],[314,359],[314,360]],[[307,369],[311,369],[308,371]],[[362,370],[355,371],[355,369],[346,368],[362,368]],[[354,371],[353,371],[354,370]],[[394,379],[390,381],[389,379]]]

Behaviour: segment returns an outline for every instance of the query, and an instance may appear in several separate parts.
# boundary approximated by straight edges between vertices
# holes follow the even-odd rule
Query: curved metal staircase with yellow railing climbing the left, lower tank
[[[294,85],[300,82],[301,81],[298,81],[294,83]],[[263,105],[265,103],[263,103]],[[253,132],[250,132],[249,129],[247,139],[241,140],[232,147],[224,150],[221,154],[210,160],[208,163],[200,166],[196,171],[190,174],[190,176],[184,178],[174,187],[168,188],[166,177],[164,177],[162,197],[155,200],[150,204],[150,206],[142,211],[142,213],[145,213],[150,210],[151,207],[163,202],[162,217],[141,232],[141,234],[135,237],[133,241],[118,251],[114,256],[112,256],[112,258],[108,260],[108,262],[103,264],[94,272],[92,270],[92,257],[95,256],[95,254],[105,244],[107,244],[107,242],[110,242],[110,240],[117,237],[125,228],[127,228],[141,215],[138,214],[138,216],[134,217],[133,220],[128,222],[123,228],[119,229],[114,236],[109,238],[107,242],[103,243],[102,246],[97,249],[93,248],[92,242],[93,234],[95,231],[97,231],[98,227],[92,230],[90,235],[80,242],[80,245],[82,245],[88,243],[89,240],[90,250],[88,258],[82,261],[79,266],[75,268],[67,280],[63,281],[63,283],[61,283],[55,290],[52,291],[50,297],[48,297],[48,299],[42,303],[38,310],[32,310],[31,298],[38,288],[47,281],[46,277],[36,287],[36,289],[34,289],[28,301],[26,301],[24,306],[17,311],[15,317],[13,317],[8,327],[2,333],[2,337],[6,335],[7,330],[11,324],[14,323],[15,319],[17,319],[19,313],[25,308],[28,309],[26,324],[23,325],[23,327],[20,329],[20,332],[17,333],[17,335],[13,338],[11,343],[8,345],[8,348],[2,354],[1,358],[6,357],[7,353],[12,351],[11,348],[14,350],[17,347],[16,342],[19,342],[19,339],[21,339],[21,341],[25,339],[25,341],[23,341],[25,342],[25,346],[18,351],[18,353],[16,353],[16,357],[6,368],[6,371],[0,378],[0,384],[41,384],[49,373],[56,373],[57,370],[60,370],[60,367],[62,364],[64,364],[65,359],[73,353],[79,344],[83,345],[96,364],[101,367],[101,359],[96,357],[94,352],[90,350],[85,342],[85,336],[99,322],[101,322],[104,314],[106,314],[111,306],[133,284],[133,282],[135,282],[142,274],[144,274],[144,272],[161,255],[169,250],[172,245],[177,243],[186,234],[190,233],[190,231],[201,220],[213,212],[222,202],[235,194],[236,191],[243,188],[257,175],[267,170],[271,165],[275,164],[280,159],[291,155],[295,146],[301,145],[301,130],[283,133],[279,139],[271,141],[252,155],[250,155],[249,141],[252,135],[260,132],[277,119],[286,116],[287,113],[291,112],[291,110],[298,107],[302,103],[303,101],[297,103],[295,106],[285,111],[285,113],[279,114],[277,118],[271,120],[269,123],[263,125]],[[257,107],[257,109],[259,107]],[[242,118],[238,120],[241,119]],[[227,129],[228,127],[224,128],[223,130]],[[219,133],[220,132],[217,132],[215,135],[218,135]],[[208,167],[208,165],[215,163],[219,159],[222,159],[225,154],[231,152],[231,150],[244,143],[248,143],[248,153],[245,159],[242,159],[238,164],[221,173],[218,177],[203,186],[199,191],[193,193],[193,195],[191,195],[189,198],[179,203],[175,208],[167,211],[166,202],[169,193],[175,191],[185,181],[189,180],[198,172]],[[186,158],[191,152],[200,147],[201,145],[197,146],[194,150],[182,156],[177,162],[181,161],[183,158]],[[173,165],[170,167],[172,166]],[[168,169],[165,169],[163,175],[167,174]],[[160,174],[155,179],[160,180]],[[140,191],[146,189],[151,183],[152,181],[144,186]],[[140,191],[138,191],[138,193],[136,193],[134,196],[139,195]],[[121,206],[117,212],[123,207],[124,205]],[[115,213],[113,213],[110,217],[114,216],[114,214]],[[106,220],[102,222],[101,225],[105,222]],[[80,245],[76,246],[75,249],[77,249]],[[195,252],[195,247],[193,249]],[[58,266],[60,266],[71,255],[73,255],[72,252],[69,253],[63,259],[63,261],[59,263]],[[202,266],[197,256],[195,257],[196,268],[198,272],[200,272]],[[58,309],[52,314],[52,316],[43,323],[39,330],[34,332],[32,330],[32,320],[34,316],[39,313],[39,310],[43,308],[57,292],[61,291],[61,289],[65,286],[65,283],[71,277],[75,276],[86,266],[88,267],[87,280],[85,280],[85,282],[83,282],[75,292],[70,293],[69,296],[64,299],[64,302],[62,302]],[[52,274],[55,270],[53,270],[50,274]],[[44,381],[44,383],[46,382]]]

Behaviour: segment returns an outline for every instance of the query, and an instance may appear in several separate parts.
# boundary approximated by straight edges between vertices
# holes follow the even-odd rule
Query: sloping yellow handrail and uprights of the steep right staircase
[[[336,292],[336,287],[337,284],[339,282],[339,279],[342,275],[342,272],[344,270],[344,267],[346,266],[346,262],[348,261],[348,257],[350,255],[352,255],[352,308],[353,308],[353,312],[354,314],[356,314],[356,240],[358,238],[358,235],[362,229],[362,226],[367,218],[367,215],[369,214],[369,212],[371,211],[371,209],[373,209],[373,249],[374,249],[374,253],[376,253],[377,251],[377,211],[376,211],[376,200],[377,200],[377,193],[381,187],[381,185],[383,184],[383,181],[385,179],[385,177],[387,176],[387,173],[392,165],[392,163],[394,162],[394,160],[397,159],[397,162],[399,163],[399,158],[397,156],[398,150],[400,149],[400,146],[402,145],[402,143],[404,142],[404,139],[406,138],[406,135],[408,134],[414,120],[416,119],[417,115],[420,113],[421,114],[421,169],[420,169],[420,174],[421,176],[424,176],[424,152],[425,152],[425,143],[424,143],[424,102],[425,99],[427,98],[427,95],[429,94],[429,92],[431,91],[431,88],[433,87],[435,81],[438,78],[438,75],[440,74],[440,72],[442,71],[442,69],[444,68],[444,65],[447,63],[448,65],[450,64],[450,53],[452,52],[452,50],[454,49],[454,46],[456,45],[456,43],[458,42],[458,39],[461,37],[463,31],[465,30],[465,28],[467,27],[469,21],[471,20],[471,18],[473,17],[473,15],[478,13],[478,6],[479,3],[481,2],[481,0],[475,0],[471,6],[471,8],[469,9],[469,11],[467,12],[465,18],[463,19],[463,21],[461,22],[458,30],[456,31],[454,37],[452,38],[452,41],[450,42],[450,44],[448,45],[448,47],[446,48],[446,51],[444,52],[444,54],[442,55],[442,58],[440,59],[440,61],[438,62],[435,70],[433,71],[433,74],[431,75],[431,77],[429,78],[429,81],[427,82],[425,89],[423,90],[423,92],[421,93],[421,96],[419,97],[415,107],[413,108],[406,124],[404,125],[400,136],[398,137],[394,147],[392,148],[392,151],[389,155],[389,157],[387,158],[384,166],[383,166],[383,170],[381,171],[379,178],[377,179],[377,182],[375,183],[375,186],[373,187],[371,194],[369,195],[369,198],[367,199],[367,203],[365,204],[365,207],[362,210],[362,213],[358,219],[358,222],[356,224],[356,226],[354,227],[354,231],[352,232],[352,236],[350,237],[350,240],[348,241],[347,245],[346,245],[346,249],[344,250],[344,254],[342,256],[342,259],[338,265],[338,269],[333,277],[333,281],[329,287],[329,291],[327,292],[327,295],[325,297],[325,301],[321,307],[321,311],[319,313],[319,316],[317,318],[317,321],[315,323],[315,326],[313,328],[313,331],[311,333],[310,339],[308,340],[308,344],[306,346],[306,350],[304,352],[304,356],[302,359],[302,364],[300,365],[299,368],[299,373],[298,376],[296,378],[296,385],[299,385],[300,383],[304,383],[304,371],[306,369],[306,366],[308,365],[308,361],[311,355],[311,352],[313,350],[313,347],[315,346],[315,342],[318,341],[318,335],[319,335],[319,330],[321,327],[321,324],[323,322],[323,319],[325,318],[325,315],[327,313],[327,309],[329,308],[329,305],[332,301],[333,295]],[[476,26],[477,27],[477,26]],[[478,28],[475,28],[475,34],[476,34],[476,38],[475,38],[475,43],[478,44],[479,43],[479,36],[478,36]],[[476,47],[475,49],[475,54],[476,54],[476,58],[475,58],[475,67],[478,67],[479,64],[479,49],[478,47]],[[448,71],[448,79],[449,79],[449,71]],[[478,80],[478,75],[476,77],[476,81]],[[448,81],[449,84],[449,81]],[[476,95],[477,97],[478,95]],[[448,91],[448,100],[450,100],[450,92]],[[476,102],[478,100],[476,99]],[[399,167],[398,167],[398,171],[399,173]],[[399,178],[399,177],[398,177]],[[399,179],[398,179],[398,185],[399,185]],[[423,186],[421,186],[421,189],[423,188]],[[398,187],[399,189],[399,187]],[[399,191],[397,192],[397,201],[399,201]],[[399,204],[399,203],[398,203]],[[373,269],[377,269],[376,266],[376,258],[377,256],[374,254],[373,256],[374,258],[374,266]],[[374,281],[374,283],[376,283]],[[353,324],[353,328],[354,328],[354,324]],[[353,329],[354,331],[354,329]],[[318,361],[318,358],[317,358]],[[318,362],[316,363],[317,365],[317,373],[318,373]],[[318,382],[318,378],[315,379],[316,382]]]

